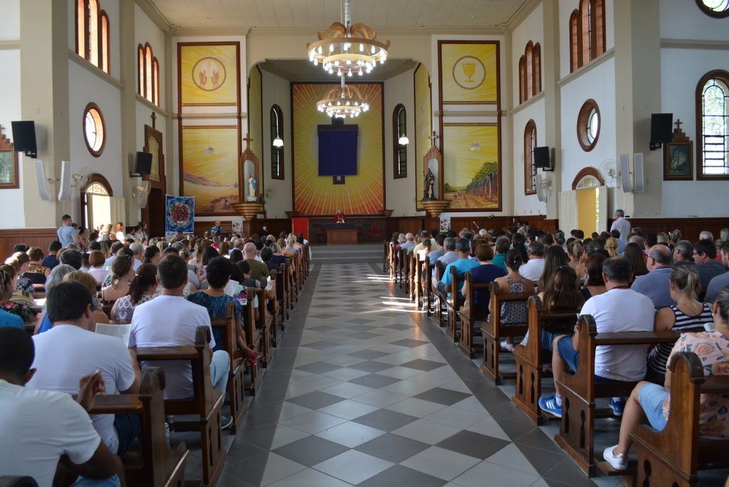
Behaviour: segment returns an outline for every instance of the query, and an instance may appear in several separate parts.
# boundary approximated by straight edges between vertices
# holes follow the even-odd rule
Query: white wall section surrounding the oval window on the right
[[[572,189],[572,180],[582,168],[592,165],[600,168],[606,160],[615,161],[615,59],[610,58],[599,66],[571,79],[561,90],[563,190]],[[577,141],[577,114],[588,98],[596,101],[600,109],[600,136],[590,152],[585,152]],[[515,126],[516,130],[516,126]],[[553,198],[555,195],[553,195]]]

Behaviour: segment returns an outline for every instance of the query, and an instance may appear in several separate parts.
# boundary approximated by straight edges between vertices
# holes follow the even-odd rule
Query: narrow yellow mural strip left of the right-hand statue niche
[[[415,85],[415,181],[416,181],[416,206],[420,207],[421,195],[423,195],[423,157],[428,153],[431,140],[429,139],[433,130],[433,108],[430,91],[430,76],[428,70],[422,64],[419,65],[413,74]]]

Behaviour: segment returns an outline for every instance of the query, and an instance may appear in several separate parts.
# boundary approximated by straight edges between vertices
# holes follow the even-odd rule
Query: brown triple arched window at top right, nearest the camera
[[[605,52],[604,0],[580,0],[569,16],[569,69],[574,71]]]

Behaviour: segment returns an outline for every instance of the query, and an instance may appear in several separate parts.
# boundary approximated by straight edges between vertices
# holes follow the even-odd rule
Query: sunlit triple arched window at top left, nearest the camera
[[[109,15],[98,0],[76,1],[76,52],[106,73],[111,73],[109,29]]]

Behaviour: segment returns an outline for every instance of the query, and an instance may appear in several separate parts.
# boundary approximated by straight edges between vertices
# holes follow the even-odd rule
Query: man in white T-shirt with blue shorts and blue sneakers
[[[612,257],[602,266],[607,292],[590,297],[580,314],[595,319],[598,333],[653,331],[655,308],[650,297],[628,288],[633,277],[625,257]],[[577,327],[575,327],[577,330]],[[555,378],[567,370],[577,370],[580,352],[577,334],[558,335],[553,340],[552,370]],[[595,381],[642,381],[645,377],[648,345],[599,346],[595,351]],[[568,369],[569,367],[569,369]],[[562,417],[562,390],[555,381],[555,394],[539,398],[539,408]],[[623,414],[624,400],[613,397],[610,407],[615,416]]]

